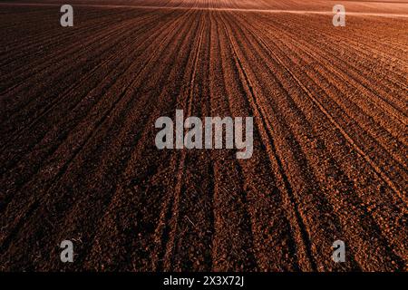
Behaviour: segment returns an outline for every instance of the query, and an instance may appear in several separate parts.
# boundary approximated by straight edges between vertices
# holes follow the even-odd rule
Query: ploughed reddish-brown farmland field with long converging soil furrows
[[[408,2],[68,2],[0,1],[0,270],[408,271]]]

